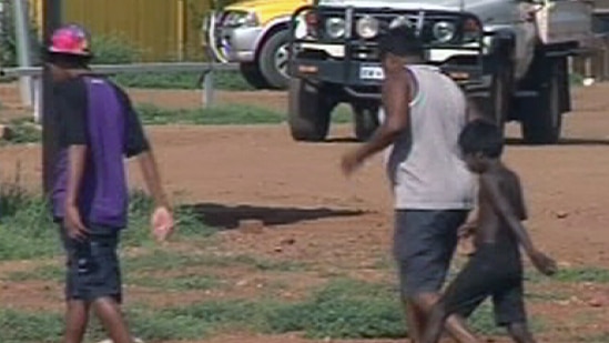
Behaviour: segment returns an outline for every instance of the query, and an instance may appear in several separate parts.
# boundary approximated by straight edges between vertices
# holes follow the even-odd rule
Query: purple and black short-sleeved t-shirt
[[[128,186],[124,158],[149,149],[129,97],[102,77],[83,75],[53,87],[55,159],[53,215],[64,214],[68,148],[87,145],[88,155],[78,205],[85,224],[114,229],[126,226]]]

